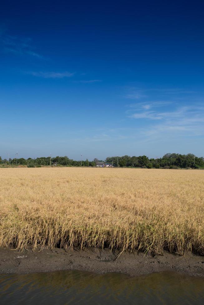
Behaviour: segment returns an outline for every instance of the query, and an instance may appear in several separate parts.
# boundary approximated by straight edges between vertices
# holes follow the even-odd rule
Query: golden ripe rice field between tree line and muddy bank
[[[204,254],[204,171],[0,169],[0,247]]]

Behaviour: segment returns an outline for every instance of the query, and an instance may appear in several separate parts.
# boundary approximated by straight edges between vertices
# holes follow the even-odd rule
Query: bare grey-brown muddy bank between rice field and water
[[[104,250],[78,251],[71,249],[30,249],[19,252],[0,249],[0,273],[32,273],[56,270],[81,270],[95,273],[119,272],[142,275],[166,270],[204,276],[204,257],[187,253],[177,256],[165,252],[163,256],[143,253],[122,253]]]

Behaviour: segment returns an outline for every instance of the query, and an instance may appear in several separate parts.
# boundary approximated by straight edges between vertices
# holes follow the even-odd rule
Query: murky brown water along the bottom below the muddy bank
[[[204,304],[204,279],[57,271],[0,275],[0,304]]]

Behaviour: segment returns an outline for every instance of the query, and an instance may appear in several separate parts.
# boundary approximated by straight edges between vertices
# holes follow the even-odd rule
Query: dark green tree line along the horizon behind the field
[[[142,168],[204,168],[204,158],[196,157],[195,155],[188,153],[187,155],[181,155],[178,153],[167,153],[162,158],[148,158],[147,156],[114,156],[107,157],[106,160],[98,160],[95,158],[93,161],[86,160],[73,160],[65,157],[40,157],[40,158],[19,158],[2,160],[0,157],[0,163],[7,165],[27,165],[28,167],[40,167],[48,165],[56,166],[96,166],[96,162],[105,162],[113,164],[114,167],[142,167]]]

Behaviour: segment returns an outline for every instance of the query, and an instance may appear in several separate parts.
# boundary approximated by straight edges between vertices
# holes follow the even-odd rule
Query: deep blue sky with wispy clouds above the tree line
[[[203,1],[2,3],[0,155],[203,156],[203,10]]]

